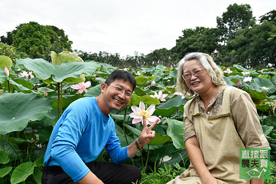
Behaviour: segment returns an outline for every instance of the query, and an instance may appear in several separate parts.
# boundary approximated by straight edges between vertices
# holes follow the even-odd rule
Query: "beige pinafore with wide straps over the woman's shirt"
[[[222,114],[208,116],[199,113],[196,103],[194,128],[204,162],[212,176],[221,184],[249,184],[250,180],[239,179],[239,148],[245,148],[239,138],[230,114],[230,91],[225,89]],[[167,184],[201,184],[193,164],[175,180]]]

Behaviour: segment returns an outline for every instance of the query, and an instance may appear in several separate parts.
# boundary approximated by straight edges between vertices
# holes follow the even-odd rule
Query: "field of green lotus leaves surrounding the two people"
[[[66,51],[60,54],[52,52],[51,59],[51,63],[30,58],[16,59],[12,63],[8,57],[0,57],[0,183],[40,184],[47,142],[62,111],[79,98],[98,96],[99,84],[117,69],[106,63],[84,62],[76,54]],[[141,169],[143,178],[140,183],[165,183],[189,165],[182,122],[183,105],[188,99],[175,94],[176,68],[158,64],[125,70],[133,73],[138,86],[128,106],[111,113],[116,133],[122,146],[133,142],[142,126],[132,124],[130,106],[138,106],[139,102],[146,106],[156,105],[154,115],[161,119],[154,128],[156,137],[127,164],[135,164]],[[272,148],[271,168],[275,172],[276,69],[257,71],[233,65],[227,71],[225,80],[228,85],[247,91],[256,104],[263,131]],[[78,94],[70,87],[85,81],[92,83],[85,93],[78,90]],[[160,94],[160,91],[168,96],[150,96],[155,92]],[[97,160],[111,162],[105,150]]]

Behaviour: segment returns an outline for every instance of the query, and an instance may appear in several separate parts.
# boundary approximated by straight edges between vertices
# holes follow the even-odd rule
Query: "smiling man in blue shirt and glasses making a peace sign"
[[[121,147],[109,113],[125,107],[136,87],[133,75],[115,70],[101,94],[72,102],[56,123],[44,157],[42,184],[131,184],[141,178],[136,166],[121,164],[155,137],[143,123],[138,139]],[[145,117],[143,117],[145,122]],[[105,147],[113,163],[95,162]]]

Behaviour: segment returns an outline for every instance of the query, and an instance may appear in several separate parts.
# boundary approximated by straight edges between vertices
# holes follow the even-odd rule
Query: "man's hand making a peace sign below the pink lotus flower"
[[[148,127],[146,123],[146,117],[143,115],[143,129],[137,140],[140,148],[149,143],[155,137],[155,131],[152,129],[159,121],[159,118],[156,119],[156,121],[152,123],[150,127]]]

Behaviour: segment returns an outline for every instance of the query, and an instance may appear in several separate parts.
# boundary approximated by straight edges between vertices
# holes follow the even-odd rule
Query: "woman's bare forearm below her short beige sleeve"
[[[199,148],[197,137],[190,137],[185,141],[185,145],[189,159],[197,170],[202,184],[220,184],[217,179],[211,175],[204,163],[203,154]]]

